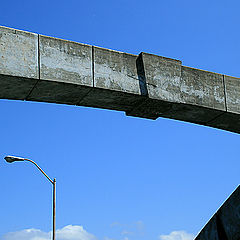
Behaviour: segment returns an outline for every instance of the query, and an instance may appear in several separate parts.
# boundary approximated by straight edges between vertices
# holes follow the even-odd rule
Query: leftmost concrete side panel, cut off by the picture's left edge
[[[38,78],[38,35],[0,27],[0,74]]]

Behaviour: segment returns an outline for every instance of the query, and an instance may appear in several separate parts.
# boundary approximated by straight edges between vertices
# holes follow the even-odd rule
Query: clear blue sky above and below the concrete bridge
[[[0,25],[240,77],[239,7],[13,0],[1,3]],[[67,105],[0,100],[0,109],[1,240],[51,231],[51,185],[29,163],[5,163],[8,154],[56,177],[58,240],[190,240],[239,184],[234,133]]]

